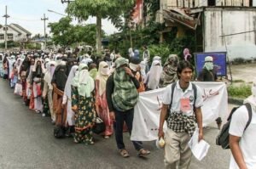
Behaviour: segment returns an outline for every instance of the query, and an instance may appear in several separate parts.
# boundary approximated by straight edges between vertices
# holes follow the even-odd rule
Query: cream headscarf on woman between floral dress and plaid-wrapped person
[[[102,96],[102,93],[106,91],[106,83],[109,76],[109,67],[104,68],[105,66],[108,66],[108,64],[104,61],[102,61],[99,65],[99,70],[96,76],[96,80],[99,80],[99,94]]]

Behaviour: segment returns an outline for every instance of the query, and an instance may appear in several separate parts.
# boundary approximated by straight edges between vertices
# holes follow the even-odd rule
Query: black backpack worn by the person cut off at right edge
[[[249,126],[250,122],[252,121],[252,107],[250,104],[244,104],[247,107],[247,111],[249,114],[249,119],[247,121],[247,126],[244,128],[244,131]],[[240,107],[240,106],[239,106]],[[230,122],[233,113],[239,108],[235,107],[231,110],[230,115],[227,119],[227,122],[222,127],[221,131],[218,133],[218,136],[216,138],[216,145],[221,146],[223,149],[230,149]]]

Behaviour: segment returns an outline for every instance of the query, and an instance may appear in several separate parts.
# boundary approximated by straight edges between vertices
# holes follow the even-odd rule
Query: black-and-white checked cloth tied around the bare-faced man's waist
[[[195,132],[195,115],[183,115],[182,112],[172,112],[167,119],[167,126],[174,132]]]

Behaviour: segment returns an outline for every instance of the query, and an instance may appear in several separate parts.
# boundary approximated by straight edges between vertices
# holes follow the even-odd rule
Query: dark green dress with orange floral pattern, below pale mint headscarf
[[[94,93],[91,93],[91,97],[87,98],[79,94],[77,87],[72,87],[72,107],[78,108],[78,112],[75,113],[74,139],[84,144],[92,142],[91,128],[96,121],[94,103]]]

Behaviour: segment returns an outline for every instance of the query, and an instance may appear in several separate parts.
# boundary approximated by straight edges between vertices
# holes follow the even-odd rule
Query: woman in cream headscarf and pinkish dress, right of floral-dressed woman
[[[106,83],[110,70],[108,64],[102,61],[96,76],[96,112],[102,118],[106,125],[104,138],[109,138],[113,134],[113,121],[111,121],[108,110],[106,96]]]

